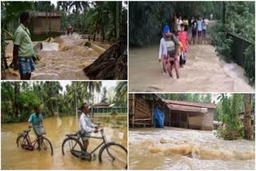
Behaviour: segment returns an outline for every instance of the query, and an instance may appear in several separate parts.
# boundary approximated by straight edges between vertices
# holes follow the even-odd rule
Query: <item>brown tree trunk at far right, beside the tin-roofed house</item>
[[[251,94],[246,93],[244,96],[244,103],[245,103],[245,113],[244,113],[244,119],[243,119],[243,125],[245,128],[245,137],[248,140],[252,140],[253,131],[251,127],[251,115],[250,115],[250,103],[251,103]]]

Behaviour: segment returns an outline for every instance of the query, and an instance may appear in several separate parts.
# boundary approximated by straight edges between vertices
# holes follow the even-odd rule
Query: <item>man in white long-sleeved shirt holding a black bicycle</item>
[[[82,114],[80,116],[80,130],[82,133],[82,143],[85,151],[89,145],[90,133],[98,133],[98,127],[90,121],[89,105],[87,103],[82,104]]]

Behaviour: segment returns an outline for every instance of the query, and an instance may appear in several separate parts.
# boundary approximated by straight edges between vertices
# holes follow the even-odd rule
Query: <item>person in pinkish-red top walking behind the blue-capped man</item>
[[[181,25],[181,31],[178,32],[178,40],[182,42],[182,53],[180,57],[180,66],[183,67],[183,65],[186,64],[186,53],[187,53],[187,45],[188,45],[188,38],[187,38],[187,33],[185,31],[185,26],[182,24]]]

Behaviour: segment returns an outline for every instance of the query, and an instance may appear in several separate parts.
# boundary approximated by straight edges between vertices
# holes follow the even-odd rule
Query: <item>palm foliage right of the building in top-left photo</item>
[[[127,26],[127,9],[122,2],[58,2],[62,28],[70,25],[85,34],[101,34],[114,41]]]

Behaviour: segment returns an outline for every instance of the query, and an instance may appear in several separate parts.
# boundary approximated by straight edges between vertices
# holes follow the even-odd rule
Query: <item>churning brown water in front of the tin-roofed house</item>
[[[255,141],[192,129],[132,129],[129,162],[130,169],[255,169]]]

